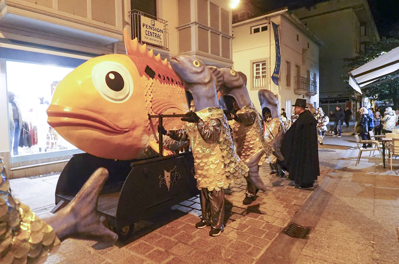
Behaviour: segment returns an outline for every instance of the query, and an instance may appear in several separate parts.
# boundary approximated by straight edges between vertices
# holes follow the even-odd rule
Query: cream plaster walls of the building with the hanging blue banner
[[[313,73],[316,73],[316,81],[319,85],[319,46],[310,37],[300,31],[294,24],[288,21],[283,16],[277,15],[271,18],[272,22],[279,25],[280,33],[280,53],[281,53],[281,67],[279,86],[271,81],[270,76],[273,74],[275,67],[275,39],[273,31],[259,32],[250,34],[251,26],[260,25],[267,20],[265,18],[259,19],[247,24],[239,26],[233,25],[233,68],[236,71],[242,71],[247,75],[247,88],[249,96],[260,111],[260,103],[258,99],[258,91],[251,91],[251,67],[252,60],[260,58],[268,58],[269,65],[269,86],[262,88],[271,90],[277,94],[280,108],[286,108],[286,100],[291,100],[292,104],[297,98],[302,98],[302,95],[294,93],[294,77],[296,77],[295,65],[300,66],[301,77],[306,78],[306,70],[310,71],[310,79],[313,79]],[[271,38],[269,37],[271,35]],[[296,40],[296,35],[299,35],[299,41]],[[269,46],[270,41],[270,46]],[[309,48],[307,44],[309,43]],[[307,49],[306,59],[302,61],[302,49]],[[291,63],[291,85],[286,86],[286,61]],[[307,102],[313,104],[316,102],[318,106],[319,93],[312,97],[305,95]],[[287,111],[286,111],[287,112]]]

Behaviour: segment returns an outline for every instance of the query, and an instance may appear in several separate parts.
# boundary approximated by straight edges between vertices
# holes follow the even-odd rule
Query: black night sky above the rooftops
[[[284,6],[295,9],[303,6],[312,6],[326,0],[241,0],[251,2],[261,12],[268,12]],[[399,0],[367,0],[381,37],[388,36],[394,28],[399,29]]]

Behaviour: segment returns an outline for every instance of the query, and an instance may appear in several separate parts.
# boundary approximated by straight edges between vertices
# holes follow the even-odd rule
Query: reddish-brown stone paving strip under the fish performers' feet
[[[329,154],[329,153],[327,153]],[[321,178],[330,164],[320,165]],[[254,263],[271,241],[290,222],[311,191],[294,188],[291,181],[269,175],[269,165],[260,174],[265,193],[251,205],[243,205],[245,180],[225,190],[225,231],[209,236],[209,227],[196,229],[201,215],[198,197],[175,205],[156,220],[135,226],[128,243],[96,244],[94,241],[67,239],[46,264],[111,263]]]

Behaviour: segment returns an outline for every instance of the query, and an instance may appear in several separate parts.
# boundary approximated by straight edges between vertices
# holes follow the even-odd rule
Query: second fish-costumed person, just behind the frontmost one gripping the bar
[[[229,121],[232,129],[234,144],[237,148],[237,154],[249,167],[249,177],[247,180],[247,191],[243,200],[244,205],[249,205],[255,200],[257,191],[266,191],[266,187],[259,176],[259,165],[263,162],[271,162],[274,156],[273,150],[263,138],[263,127],[261,125],[262,117],[249,99],[247,90],[247,76],[239,71],[229,68],[217,69],[209,66],[214,76],[217,72],[223,76],[223,85],[219,92],[223,97],[227,109],[233,111],[236,105],[237,111],[227,113],[233,120]],[[253,159],[252,157],[258,157]]]

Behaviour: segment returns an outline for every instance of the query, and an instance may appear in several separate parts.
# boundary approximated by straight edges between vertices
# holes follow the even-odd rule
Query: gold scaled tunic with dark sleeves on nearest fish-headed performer
[[[232,186],[238,178],[247,177],[249,169],[233,150],[223,110],[209,107],[196,114],[202,121],[188,122],[184,125],[185,131],[169,131],[169,136],[180,141],[190,139],[198,189],[219,191]]]

